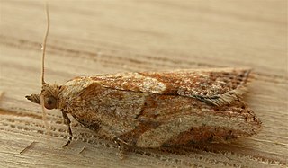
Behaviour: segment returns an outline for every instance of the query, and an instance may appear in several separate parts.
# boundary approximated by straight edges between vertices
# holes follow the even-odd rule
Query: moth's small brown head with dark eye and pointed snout
[[[29,101],[41,104],[41,96],[44,107],[46,109],[58,108],[58,95],[62,90],[62,86],[57,84],[43,84],[40,94],[31,94],[25,96]]]

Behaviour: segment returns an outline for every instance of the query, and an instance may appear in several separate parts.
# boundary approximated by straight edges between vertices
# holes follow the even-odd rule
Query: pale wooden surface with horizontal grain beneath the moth
[[[287,166],[287,1],[51,1],[49,12],[48,83],[124,71],[252,67],[258,77],[246,99],[263,130],[228,145],[136,149],[121,161],[113,143],[74,120],[76,139],[63,149],[59,111],[49,111],[47,137],[40,106],[24,98],[40,93],[44,2],[1,0],[0,167]]]

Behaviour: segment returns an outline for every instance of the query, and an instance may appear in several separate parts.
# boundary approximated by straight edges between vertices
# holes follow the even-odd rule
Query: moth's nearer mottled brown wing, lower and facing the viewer
[[[260,128],[255,114],[241,99],[217,107],[179,94],[108,88],[95,78],[76,80],[85,89],[69,103],[68,112],[87,128],[97,128],[130,146],[219,141],[251,136]]]

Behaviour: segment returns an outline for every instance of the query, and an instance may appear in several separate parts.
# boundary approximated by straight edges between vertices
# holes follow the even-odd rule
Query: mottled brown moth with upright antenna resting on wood
[[[49,13],[47,10],[49,21]],[[48,24],[49,25],[49,24]],[[249,137],[261,122],[242,95],[250,69],[210,68],[164,72],[80,76],[66,84],[44,82],[26,96],[46,109],[58,109],[66,121],[69,139],[71,114],[86,128],[123,145],[157,148],[194,143],[226,142]]]

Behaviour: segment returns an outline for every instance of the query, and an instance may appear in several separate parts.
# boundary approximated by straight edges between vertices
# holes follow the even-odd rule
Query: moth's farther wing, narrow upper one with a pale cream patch
[[[220,106],[234,102],[245,93],[249,73],[250,69],[215,68],[120,73],[91,78],[107,88],[187,96]]]

